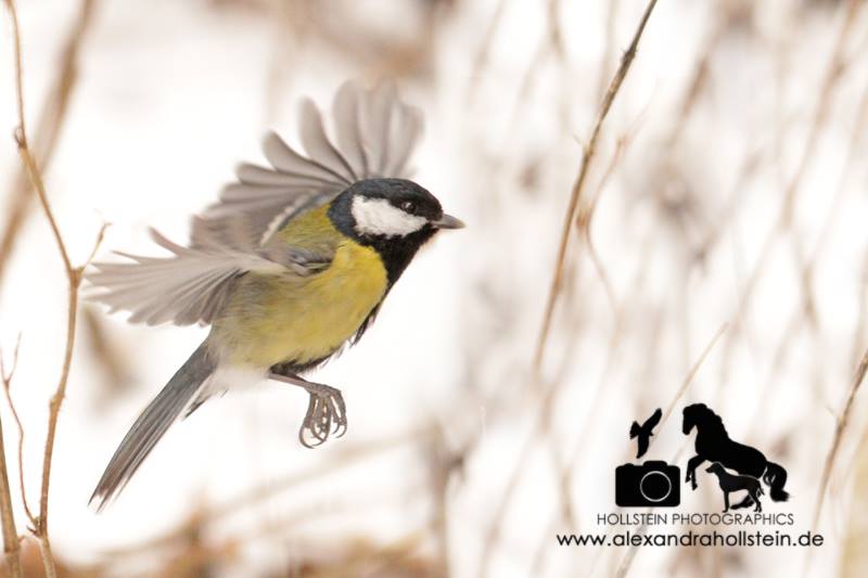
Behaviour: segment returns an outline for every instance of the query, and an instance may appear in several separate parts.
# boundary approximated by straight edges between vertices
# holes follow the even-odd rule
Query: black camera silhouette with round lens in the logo
[[[623,508],[672,508],[681,503],[681,471],[677,465],[648,461],[615,468],[615,503]]]

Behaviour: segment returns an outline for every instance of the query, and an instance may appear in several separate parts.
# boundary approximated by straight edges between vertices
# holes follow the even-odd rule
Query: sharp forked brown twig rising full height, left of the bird
[[[63,236],[61,234],[60,228],[58,227],[58,222],[54,218],[54,213],[51,209],[51,205],[48,201],[48,195],[46,194],[46,187],[42,182],[42,176],[39,172],[39,169],[36,166],[36,162],[34,160],[33,152],[27,142],[27,129],[25,123],[25,114],[24,114],[24,87],[22,81],[22,54],[21,54],[21,31],[18,28],[18,18],[17,12],[15,9],[14,0],[5,0],[7,8],[9,9],[10,18],[12,21],[12,31],[13,31],[13,39],[14,39],[14,51],[15,51],[15,93],[17,100],[17,120],[18,126],[15,129],[14,138],[15,142],[18,147],[18,154],[21,155],[22,163],[24,168],[27,172],[27,177],[30,180],[33,188],[37,192],[37,196],[39,198],[39,204],[42,207],[42,211],[46,215],[46,219],[51,228],[52,236],[54,237],[54,242],[58,245],[58,252],[60,253],[61,260],[63,261],[64,271],[66,273],[66,278],[68,281],[68,308],[67,308],[67,318],[66,318],[66,347],[65,352],[63,356],[63,367],[61,369],[61,376],[58,382],[58,387],[54,391],[54,395],[51,397],[51,401],[49,403],[49,419],[48,419],[48,434],[46,436],[46,448],[42,458],[42,489],[39,496],[39,516],[37,517],[35,535],[39,539],[40,544],[40,553],[42,555],[42,563],[44,566],[46,575],[49,578],[53,578],[56,576],[56,568],[54,565],[54,560],[51,555],[51,543],[48,537],[48,498],[49,498],[49,483],[51,479],[51,463],[52,463],[52,455],[54,452],[54,439],[56,436],[56,428],[58,428],[58,418],[60,415],[61,406],[63,403],[63,398],[66,394],[66,383],[69,377],[69,368],[72,365],[73,360],[73,347],[75,344],[75,327],[76,327],[76,319],[77,319],[77,309],[78,309],[78,287],[81,283],[81,272],[85,267],[90,262],[90,259],[93,258],[93,255],[97,252],[100,243],[102,242],[103,233],[105,232],[105,226],[102,227],[100,230],[97,242],[94,244],[93,251],[91,252],[90,257],[81,267],[73,267],[72,261],[69,259],[69,254],[66,249],[66,244],[63,241]],[[86,11],[89,11],[90,2],[85,2]]]

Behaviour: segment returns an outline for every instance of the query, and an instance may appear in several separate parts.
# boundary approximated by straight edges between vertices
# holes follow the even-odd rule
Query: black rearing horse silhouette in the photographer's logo
[[[780,465],[769,462],[763,452],[729,439],[720,416],[705,403],[693,403],[684,409],[684,434],[690,435],[697,428],[697,454],[687,462],[686,483],[697,489],[697,467],[704,461],[719,462],[729,470],[745,476],[762,479],[769,487],[769,497],[776,502],[783,502],[790,494],[783,490],[787,484],[787,471]],[[753,503],[748,496],[732,508],[745,508]]]

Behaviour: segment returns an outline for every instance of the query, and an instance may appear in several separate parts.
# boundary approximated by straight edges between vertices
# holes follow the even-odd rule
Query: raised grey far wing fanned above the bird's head
[[[224,229],[242,220],[267,243],[299,213],[331,201],[352,183],[375,177],[408,177],[408,163],[422,131],[421,112],[382,82],[365,90],[345,82],[332,104],[334,139],[309,99],[301,103],[302,154],[269,132],[263,152],[270,166],[242,164],[238,181],[226,187],[201,224]],[[194,227],[192,242],[197,242]]]

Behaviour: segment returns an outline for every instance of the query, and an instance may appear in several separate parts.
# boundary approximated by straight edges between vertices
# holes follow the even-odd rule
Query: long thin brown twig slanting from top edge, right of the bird
[[[597,152],[597,141],[600,138],[600,132],[602,129],[603,121],[605,120],[605,117],[609,115],[609,110],[612,107],[612,102],[614,102],[618,90],[621,90],[621,86],[624,82],[624,78],[626,78],[627,72],[629,72],[630,65],[633,64],[633,61],[636,57],[636,51],[639,46],[639,39],[642,37],[644,27],[648,24],[648,18],[651,16],[651,12],[654,10],[656,3],[658,3],[656,0],[651,0],[650,2],[648,2],[648,5],[644,9],[644,13],[642,14],[642,20],[639,22],[639,27],[636,29],[636,33],[634,34],[633,41],[627,48],[627,51],[624,52],[624,54],[621,56],[621,65],[615,72],[615,76],[612,78],[612,81],[609,84],[609,89],[607,90],[605,95],[603,97],[603,101],[600,106],[600,112],[597,116],[593,129],[591,130],[590,140],[583,150],[582,165],[579,167],[578,176],[576,177],[575,183],[573,184],[573,190],[570,195],[570,204],[564,215],[564,223],[561,231],[561,242],[558,248],[558,257],[554,265],[554,274],[552,275],[551,279],[548,300],[546,303],[546,311],[542,317],[542,327],[539,332],[539,341],[537,343],[536,355],[534,356],[534,373],[536,374],[537,377],[539,376],[542,368],[542,357],[546,351],[546,343],[548,341],[549,331],[551,329],[551,320],[552,316],[554,314],[554,306],[557,304],[558,296],[563,285],[563,270],[564,270],[564,258],[566,256],[566,246],[570,243],[570,233],[572,231],[573,219],[576,213],[576,208],[578,206],[578,201],[579,197],[582,196],[583,189],[585,188],[585,180],[588,175],[588,167],[591,160],[593,159],[593,155]]]

